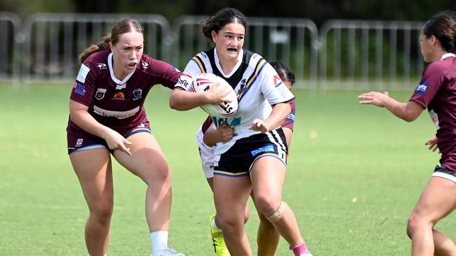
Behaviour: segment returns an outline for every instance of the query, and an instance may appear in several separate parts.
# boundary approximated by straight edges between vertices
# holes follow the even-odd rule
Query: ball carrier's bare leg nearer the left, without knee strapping
[[[215,210],[231,255],[252,255],[244,231],[244,215],[250,188],[247,176],[214,176]]]

